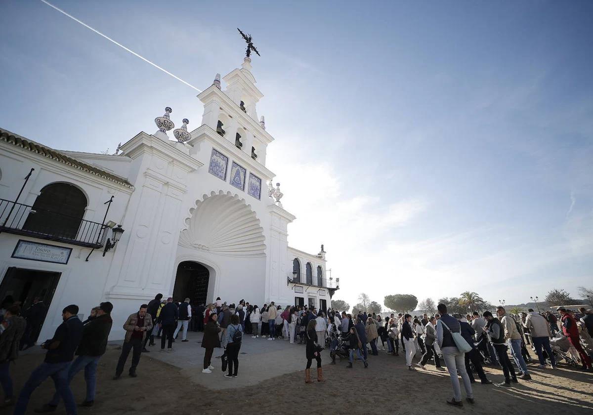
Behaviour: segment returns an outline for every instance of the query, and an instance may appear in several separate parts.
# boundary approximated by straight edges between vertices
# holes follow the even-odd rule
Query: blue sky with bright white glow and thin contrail
[[[336,298],[474,290],[496,303],[593,286],[593,2],[63,1],[207,88],[262,57],[268,165],[326,244]],[[0,125],[111,152],[197,92],[40,1],[4,1]]]

